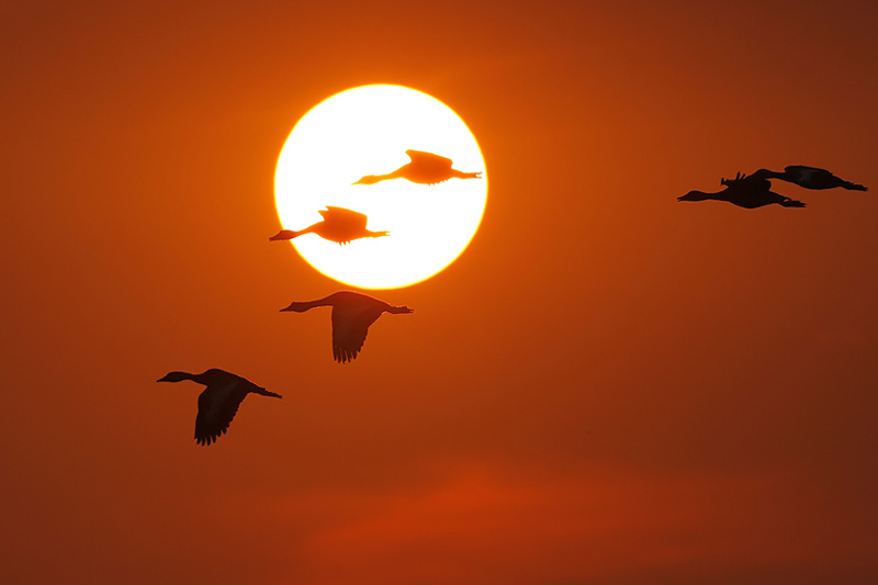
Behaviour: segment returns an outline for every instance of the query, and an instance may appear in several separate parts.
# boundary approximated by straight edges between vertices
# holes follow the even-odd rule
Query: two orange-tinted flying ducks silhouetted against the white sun
[[[410,162],[387,175],[367,175],[353,184],[375,184],[390,179],[406,179],[413,183],[436,184],[453,178],[479,179],[482,176],[481,172],[463,172],[451,168],[452,161],[450,158],[434,155],[432,153],[409,149],[405,154],[412,159]],[[297,232],[281,229],[268,239],[270,241],[279,241],[293,239],[305,234],[317,234],[324,239],[340,245],[349,244],[354,239],[378,238],[390,235],[390,232],[367,229],[368,217],[365,214],[353,210],[327,205],[326,210],[320,210],[319,213],[323,216],[323,221]]]

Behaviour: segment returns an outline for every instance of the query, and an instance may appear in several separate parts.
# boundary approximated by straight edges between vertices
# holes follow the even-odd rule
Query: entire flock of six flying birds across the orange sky
[[[368,175],[353,184],[374,184],[390,179],[406,179],[414,183],[436,184],[452,178],[477,179],[481,172],[462,172],[451,167],[451,159],[425,153],[421,150],[406,150],[412,159],[398,169],[387,175]],[[784,172],[759,169],[752,175],[741,175],[734,179],[722,179],[722,191],[706,193],[689,191],[677,198],[678,201],[727,201],[734,205],[756,209],[776,203],[784,207],[804,207],[804,203],[780,195],[772,191],[769,179],[781,179],[796,183],[806,189],[833,189],[841,187],[856,191],[866,191],[862,184],[852,183],[835,177],[828,170],[814,167],[790,166]],[[305,234],[335,241],[339,245],[349,244],[354,239],[367,237],[381,237],[390,235],[387,232],[372,232],[367,229],[368,217],[359,212],[345,207],[326,206],[322,210],[322,222],[309,225],[297,232],[282,229],[269,240],[288,240]],[[331,306],[333,322],[333,358],[339,363],[346,363],[357,358],[363,347],[369,326],[383,313],[401,314],[412,313],[407,306],[396,306],[385,303],[380,299],[353,291],[335,292],[324,299],[307,302],[294,302],[281,311],[303,313],[317,306]],[[211,369],[200,374],[188,372],[170,372],[158,382],[181,382],[191,380],[203,384],[206,389],[199,396],[199,412],[195,417],[195,440],[199,445],[211,445],[222,435],[225,435],[232,419],[238,412],[238,406],[247,394],[260,394],[274,398],[280,394],[258,386],[239,375],[225,370]]]

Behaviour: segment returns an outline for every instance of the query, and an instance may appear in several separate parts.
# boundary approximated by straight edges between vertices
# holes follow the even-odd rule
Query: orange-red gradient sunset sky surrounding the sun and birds
[[[0,574],[275,585],[878,581],[878,3],[0,1]],[[290,246],[295,122],[398,83],[491,191],[440,275]],[[866,193],[678,203],[812,165]],[[192,439],[234,371],[229,434]]]

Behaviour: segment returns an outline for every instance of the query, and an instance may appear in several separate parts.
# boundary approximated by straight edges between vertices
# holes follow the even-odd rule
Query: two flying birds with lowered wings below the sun
[[[333,307],[333,357],[339,363],[357,358],[365,341],[369,326],[383,313],[413,313],[407,306],[391,305],[352,291],[339,291],[316,301],[293,302],[281,311],[304,313],[317,306]],[[211,445],[225,435],[248,394],[282,398],[280,394],[258,386],[245,378],[215,368],[200,374],[169,372],[157,382],[183,380],[206,386],[199,395],[199,413],[195,416],[195,441],[202,446]]]

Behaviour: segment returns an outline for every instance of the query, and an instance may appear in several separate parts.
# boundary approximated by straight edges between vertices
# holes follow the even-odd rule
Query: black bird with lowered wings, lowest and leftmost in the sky
[[[228,425],[232,424],[238,406],[247,394],[283,397],[257,386],[239,375],[216,368],[201,374],[170,372],[164,378],[159,378],[157,382],[181,382],[183,380],[192,380],[207,386],[199,395],[199,414],[195,417],[195,441],[202,446],[211,445],[221,435],[226,434]]]

